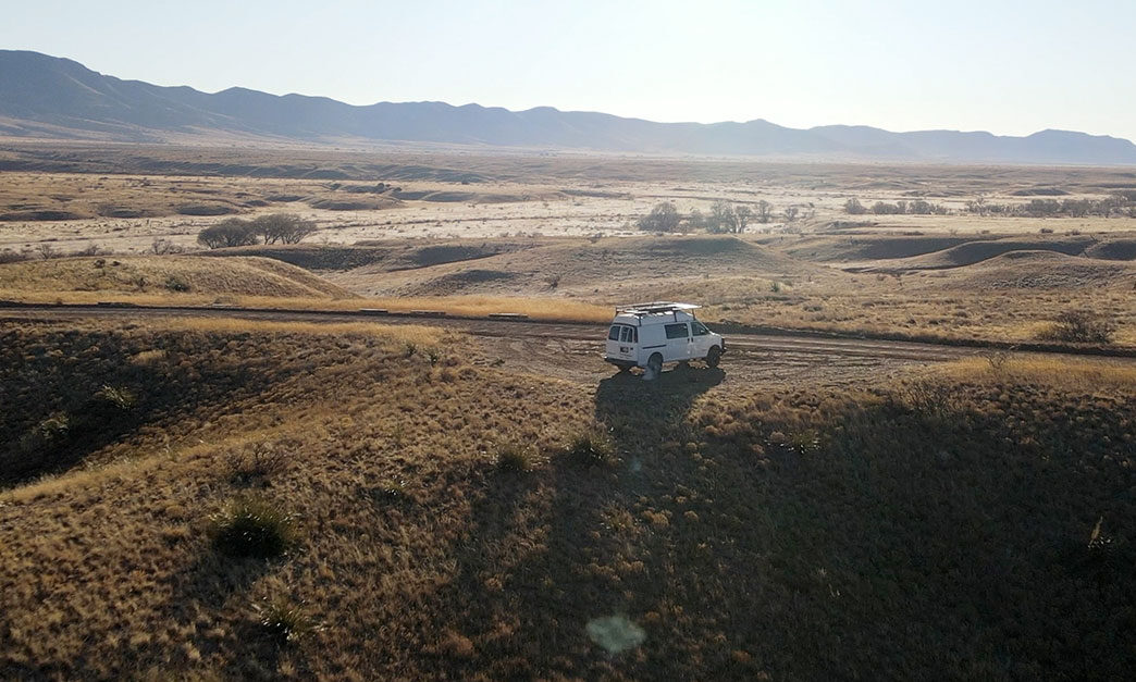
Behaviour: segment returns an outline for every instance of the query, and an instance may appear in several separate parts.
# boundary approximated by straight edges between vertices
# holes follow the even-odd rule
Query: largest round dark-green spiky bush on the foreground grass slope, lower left
[[[272,558],[295,544],[295,516],[258,497],[242,497],[210,519],[214,547],[224,555]]]

